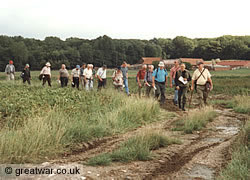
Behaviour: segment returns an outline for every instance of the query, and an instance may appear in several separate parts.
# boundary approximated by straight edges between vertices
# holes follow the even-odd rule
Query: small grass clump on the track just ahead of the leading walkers
[[[216,117],[216,112],[211,107],[205,107],[200,110],[193,110],[188,113],[183,119],[175,123],[176,128],[173,130],[192,133],[193,131],[201,130],[209,121]]]

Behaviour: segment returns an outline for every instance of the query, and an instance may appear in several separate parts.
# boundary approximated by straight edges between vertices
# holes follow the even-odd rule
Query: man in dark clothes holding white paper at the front
[[[189,82],[191,81],[191,75],[188,70],[185,69],[186,65],[182,63],[180,65],[180,70],[176,72],[175,75],[175,85],[178,90],[178,105],[183,111],[186,111],[185,104],[187,99],[187,89]]]

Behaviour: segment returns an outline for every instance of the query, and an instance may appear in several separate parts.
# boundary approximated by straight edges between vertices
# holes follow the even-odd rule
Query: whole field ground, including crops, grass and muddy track
[[[56,179],[249,179],[250,69],[211,72],[209,106],[188,111],[137,94],[135,70],[129,71],[131,96],[107,87],[52,87],[31,72],[31,85],[16,73],[0,73],[0,163],[71,168],[81,174]],[[192,73],[192,72],[191,72]],[[188,94],[188,99],[190,93]],[[27,167],[29,167],[27,165]],[[1,170],[1,168],[0,168]],[[29,175],[48,178],[48,175]],[[1,179],[1,172],[0,172]]]

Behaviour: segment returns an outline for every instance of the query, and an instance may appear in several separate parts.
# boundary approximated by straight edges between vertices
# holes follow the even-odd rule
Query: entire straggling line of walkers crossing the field
[[[185,106],[187,103],[187,92],[190,89],[191,93],[194,89],[197,90],[199,98],[199,106],[203,107],[207,104],[208,92],[213,89],[213,83],[211,79],[211,74],[208,69],[203,67],[203,62],[197,62],[198,68],[194,71],[193,75],[186,69],[184,63],[175,61],[174,67],[170,69],[170,88],[175,88],[173,103],[178,106],[181,110],[185,111]],[[14,80],[15,78],[15,66],[13,61],[10,60],[9,64],[5,68],[7,75],[7,80]],[[62,64],[59,70],[58,82],[61,87],[66,87],[71,79],[71,85],[73,88],[82,89],[87,91],[93,90],[93,80],[94,77],[98,81],[98,90],[106,87],[107,83],[107,66],[103,65],[97,72],[94,72],[93,64],[83,64],[76,65],[76,67],[71,71],[71,76],[69,75],[66,65]],[[21,78],[23,83],[26,81],[30,84],[30,70],[29,64],[26,64],[22,73]],[[47,62],[42,68],[39,76],[42,80],[42,84],[51,86],[51,64]],[[130,95],[128,88],[128,67],[127,63],[124,61],[121,66],[117,67],[112,75],[113,85],[115,89],[125,92]],[[168,72],[165,69],[163,62],[159,62],[158,67],[154,69],[153,65],[142,65],[142,68],[138,71],[136,75],[136,82],[138,85],[138,94],[141,97],[142,89],[145,88],[146,96],[150,96],[151,91],[154,91],[155,98],[160,97],[160,103],[165,103],[165,89],[168,85]]]

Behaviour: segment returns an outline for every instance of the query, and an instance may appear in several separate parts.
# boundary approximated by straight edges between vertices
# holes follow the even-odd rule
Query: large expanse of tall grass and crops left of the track
[[[157,102],[111,89],[85,92],[3,84],[0,163],[36,163],[74,143],[122,133],[158,120]]]

